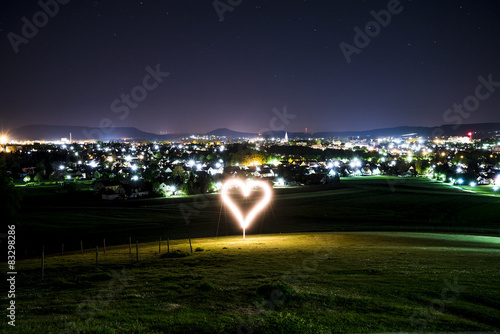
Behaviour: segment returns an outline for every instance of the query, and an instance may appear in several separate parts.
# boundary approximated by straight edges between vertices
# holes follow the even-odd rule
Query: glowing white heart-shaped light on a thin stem
[[[264,191],[264,197],[248,212],[246,217],[243,217],[243,213],[240,208],[234,203],[234,201],[229,197],[228,190],[231,188],[239,188],[243,196],[248,197],[252,188],[261,188]],[[240,179],[231,179],[224,183],[221,190],[222,200],[229,207],[231,212],[236,217],[236,220],[240,223],[243,228],[243,239],[245,239],[245,229],[250,225],[252,220],[257,216],[257,214],[266,207],[266,205],[271,201],[271,187],[268,183],[259,180],[251,180],[248,183],[243,182]]]

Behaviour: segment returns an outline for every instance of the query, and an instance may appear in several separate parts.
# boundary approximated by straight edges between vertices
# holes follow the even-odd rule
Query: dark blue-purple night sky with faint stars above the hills
[[[211,0],[72,0],[44,22],[37,1],[4,0],[0,126],[108,119],[155,133],[257,132],[284,106],[295,116],[288,131],[435,126],[475,94],[478,76],[500,82],[493,0],[402,0],[386,27],[369,25],[374,37],[348,63],[340,43],[355,45],[354,28],[391,2],[221,0],[219,11],[232,11],[220,16]],[[34,15],[41,27],[16,46],[21,19]],[[143,83],[157,65],[168,76]],[[143,100],[127,106],[121,96],[133,90]],[[500,121],[496,90],[464,123]]]

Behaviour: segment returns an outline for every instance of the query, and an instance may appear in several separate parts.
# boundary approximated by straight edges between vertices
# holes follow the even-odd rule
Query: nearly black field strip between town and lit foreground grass
[[[476,187],[480,189],[481,187]],[[482,188],[481,188],[482,189]],[[28,256],[128,242],[238,235],[218,194],[108,202],[26,188],[20,247]],[[500,199],[425,178],[343,178],[337,188],[275,189],[249,234],[308,231],[429,231],[500,235]],[[184,216],[183,213],[184,212]],[[24,254],[24,251],[23,253]]]

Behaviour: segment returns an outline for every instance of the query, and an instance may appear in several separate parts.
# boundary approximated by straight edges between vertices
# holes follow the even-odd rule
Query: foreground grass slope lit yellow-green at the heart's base
[[[193,253],[172,242],[182,256],[158,255],[157,243],[140,247],[139,263],[129,263],[128,246],[115,247],[99,268],[90,252],[49,257],[44,281],[39,260],[20,261],[11,332],[500,331],[496,237],[223,237],[193,240]]]

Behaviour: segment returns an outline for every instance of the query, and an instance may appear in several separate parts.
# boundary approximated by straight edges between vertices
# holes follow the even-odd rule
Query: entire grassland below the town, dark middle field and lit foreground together
[[[278,188],[242,240],[217,194],[24,188],[16,331],[499,332],[500,200],[467,190],[391,177]]]

